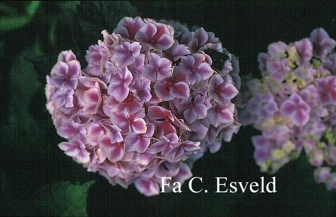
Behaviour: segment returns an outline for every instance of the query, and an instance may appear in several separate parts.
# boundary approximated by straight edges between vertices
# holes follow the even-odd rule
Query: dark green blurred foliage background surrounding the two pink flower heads
[[[239,57],[241,75],[258,78],[257,55],[268,44],[308,37],[317,27],[336,38],[335,3],[43,2],[31,16],[27,16],[28,2],[1,4],[1,22],[8,22],[8,30],[0,31],[0,215],[81,215],[73,211],[85,208],[85,187],[64,187],[69,183],[60,182],[90,180],[95,181],[86,203],[90,216],[335,215],[335,193],[315,184],[304,155],[274,174],[276,193],[214,193],[214,177],[237,182],[272,177],[259,172],[255,164],[250,138],[259,132],[251,127],[242,127],[219,152],[206,153],[195,163],[192,172],[203,177],[202,187],[208,193],[194,194],[183,185],[183,193],[147,198],[133,185],[110,186],[59,150],[57,144],[63,139],[46,111],[44,95],[45,76],[58,53],[72,49],[85,67],[87,47],[102,38],[103,29],[111,32],[123,16],[175,19],[213,31],[223,47]],[[26,17],[27,24],[15,26],[7,19],[17,16]]]

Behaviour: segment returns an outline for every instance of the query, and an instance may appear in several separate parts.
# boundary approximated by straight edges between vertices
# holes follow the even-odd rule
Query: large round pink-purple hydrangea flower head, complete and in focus
[[[59,147],[112,185],[159,194],[161,177],[183,183],[238,132],[238,61],[213,32],[173,21],[124,17],[102,34],[85,69],[62,51],[46,77],[46,107],[68,140]],[[214,67],[211,52],[227,60]]]

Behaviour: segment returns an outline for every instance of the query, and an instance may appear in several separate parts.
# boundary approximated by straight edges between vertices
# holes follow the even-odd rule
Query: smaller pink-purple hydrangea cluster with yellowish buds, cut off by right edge
[[[262,131],[252,138],[262,171],[277,171],[304,149],[317,167],[316,182],[336,189],[335,45],[320,28],[310,38],[272,43],[259,54],[262,81],[248,83],[252,96],[242,123]]]

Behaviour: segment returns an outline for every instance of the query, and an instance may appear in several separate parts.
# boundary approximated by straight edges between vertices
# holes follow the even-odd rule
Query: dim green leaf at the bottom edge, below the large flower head
[[[90,181],[83,185],[57,182],[40,187],[33,200],[32,215],[38,216],[87,216],[86,201]]]

